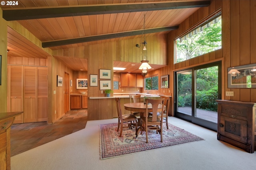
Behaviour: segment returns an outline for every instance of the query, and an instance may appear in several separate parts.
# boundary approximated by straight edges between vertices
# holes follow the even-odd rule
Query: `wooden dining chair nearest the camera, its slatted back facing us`
[[[148,113],[148,104],[152,105],[152,115],[150,116]],[[161,142],[163,142],[163,119],[160,119],[157,115],[158,113],[158,105],[162,104],[161,116],[164,113],[164,99],[146,99],[146,116],[140,117],[142,120],[142,131],[146,131],[146,143],[148,143],[148,130],[156,130],[156,133],[160,133]],[[141,131],[141,134],[142,134]]]

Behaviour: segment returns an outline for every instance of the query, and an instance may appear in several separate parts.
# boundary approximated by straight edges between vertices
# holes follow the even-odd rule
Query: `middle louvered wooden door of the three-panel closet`
[[[36,122],[36,68],[24,66],[24,123]]]

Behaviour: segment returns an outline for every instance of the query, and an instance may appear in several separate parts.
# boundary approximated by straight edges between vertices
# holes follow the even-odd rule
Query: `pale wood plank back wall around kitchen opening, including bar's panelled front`
[[[63,57],[81,57],[88,59],[88,80],[90,74],[98,74],[99,69],[113,69],[113,61],[126,61],[140,63],[140,49],[136,48],[136,44],[140,44],[141,39],[129,39],[115,42],[108,42],[84,47],[75,47],[65,50],[53,51],[54,56]],[[157,56],[152,59],[152,64],[166,64],[166,35],[155,35],[148,38],[149,45],[154,47],[148,52],[148,57]],[[159,45],[158,45],[159,44]],[[156,47],[155,47],[156,45]],[[148,58],[151,60],[151,58]],[[112,89],[113,89],[113,72],[111,73]],[[104,97],[101,94],[100,84],[98,86],[88,86],[88,97]],[[106,109],[107,106],[107,109]],[[112,119],[116,117],[116,104],[110,99],[88,99],[88,120]]]

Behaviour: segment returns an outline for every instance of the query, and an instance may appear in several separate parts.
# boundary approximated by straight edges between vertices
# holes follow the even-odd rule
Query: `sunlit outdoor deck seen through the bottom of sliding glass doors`
[[[178,111],[180,113],[184,113],[186,115],[191,115],[191,107],[178,107]],[[196,108],[196,117],[200,118],[200,119],[204,119],[204,120],[207,120],[207,121],[217,123],[218,112]]]

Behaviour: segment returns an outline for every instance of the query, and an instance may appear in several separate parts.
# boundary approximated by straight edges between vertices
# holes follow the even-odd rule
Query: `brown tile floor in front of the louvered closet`
[[[52,125],[47,122],[11,126],[11,156],[33,149],[85,128],[87,109],[68,111]]]

